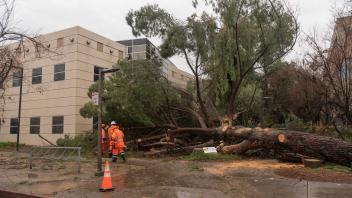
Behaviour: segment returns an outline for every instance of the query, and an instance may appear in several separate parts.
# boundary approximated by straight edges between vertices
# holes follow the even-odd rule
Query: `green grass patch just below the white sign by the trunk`
[[[239,160],[241,157],[232,154],[206,154],[203,152],[193,152],[190,155],[180,157],[180,159],[189,161],[231,161]]]

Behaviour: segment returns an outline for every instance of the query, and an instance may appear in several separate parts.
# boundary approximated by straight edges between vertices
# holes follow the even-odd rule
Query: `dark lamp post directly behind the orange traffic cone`
[[[106,70],[99,70],[99,82],[98,82],[98,89],[99,89],[99,96],[98,96],[98,106],[99,106],[99,112],[98,112],[98,155],[97,155],[97,172],[95,173],[96,176],[103,176],[104,172],[102,170],[102,155],[101,155],[101,124],[102,124],[102,112],[103,112],[103,105],[102,105],[102,98],[103,98],[103,76],[104,74],[107,73],[113,73],[117,72],[119,69],[113,68],[113,69],[106,69]]]

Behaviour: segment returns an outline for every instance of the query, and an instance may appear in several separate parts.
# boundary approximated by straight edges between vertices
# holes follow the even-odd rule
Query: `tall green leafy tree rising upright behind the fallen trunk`
[[[207,126],[213,126],[214,119],[230,123],[236,119],[242,111],[236,108],[241,87],[256,70],[269,69],[292,49],[298,25],[292,11],[277,0],[205,3],[213,13],[193,14],[186,21],[157,5],[131,11],[126,19],[135,36],[162,39],[163,57],[184,56],[195,75],[199,111]],[[215,112],[210,112],[208,103]]]

